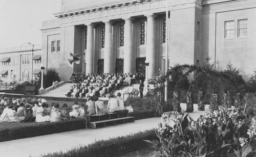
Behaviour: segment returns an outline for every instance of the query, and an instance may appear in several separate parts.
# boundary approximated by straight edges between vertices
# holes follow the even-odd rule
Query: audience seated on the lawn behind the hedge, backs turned
[[[1,112],[0,121],[10,122],[58,122],[68,120],[71,118],[86,118],[86,115],[102,115],[115,111],[125,110],[121,93],[117,94],[118,97],[114,98],[113,94],[110,94],[110,100],[108,106],[105,107],[103,101],[98,100],[98,97],[90,96],[86,103],[82,103],[81,106],[77,102],[74,102],[72,112],[69,111],[68,105],[64,103],[62,110],[58,109],[59,104],[52,103],[52,108],[49,108],[48,104],[41,102],[40,106],[38,101],[33,101],[32,104],[20,102],[15,111],[14,104],[9,102],[5,103],[3,112]],[[15,102],[14,102],[15,103]]]

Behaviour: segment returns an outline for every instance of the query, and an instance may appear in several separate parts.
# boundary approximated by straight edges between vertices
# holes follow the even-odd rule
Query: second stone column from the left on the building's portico
[[[112,22],[105,22],[104,73],[112,72]]]

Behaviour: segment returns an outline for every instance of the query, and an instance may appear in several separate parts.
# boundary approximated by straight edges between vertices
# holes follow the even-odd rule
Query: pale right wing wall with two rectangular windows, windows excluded
[[[205,5],[203,11],[204,58],[208,56],[217,70],[225,69],[231,62],[248,80],[255,70],[256,60],[256,2],[228,1],[226,3]],[[238,37],[238,20],[248,19],[247,36]],[[234,37],[225,38],[225,21],[234,21]]]

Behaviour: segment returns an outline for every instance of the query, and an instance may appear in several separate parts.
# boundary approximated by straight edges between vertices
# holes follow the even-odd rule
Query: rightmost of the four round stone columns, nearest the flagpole
[[[146,36],[146,60],[148,66],[148,78],[152,78],[155,74],[155,17],[156,15],[148,15],[147,17],[147,36]],[[167,63],[167,62],[166,62]]]

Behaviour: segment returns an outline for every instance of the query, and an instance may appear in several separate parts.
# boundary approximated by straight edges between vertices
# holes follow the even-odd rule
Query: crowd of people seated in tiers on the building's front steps
[[[79,82],[78,86],[72,86],[66,95],[80,98],[103,96],[104,93],[111,93],[114,89],[122,89],[122,86],[131,86],[136,79],[139,79],[138,74],[88,74],[82,82]]]

